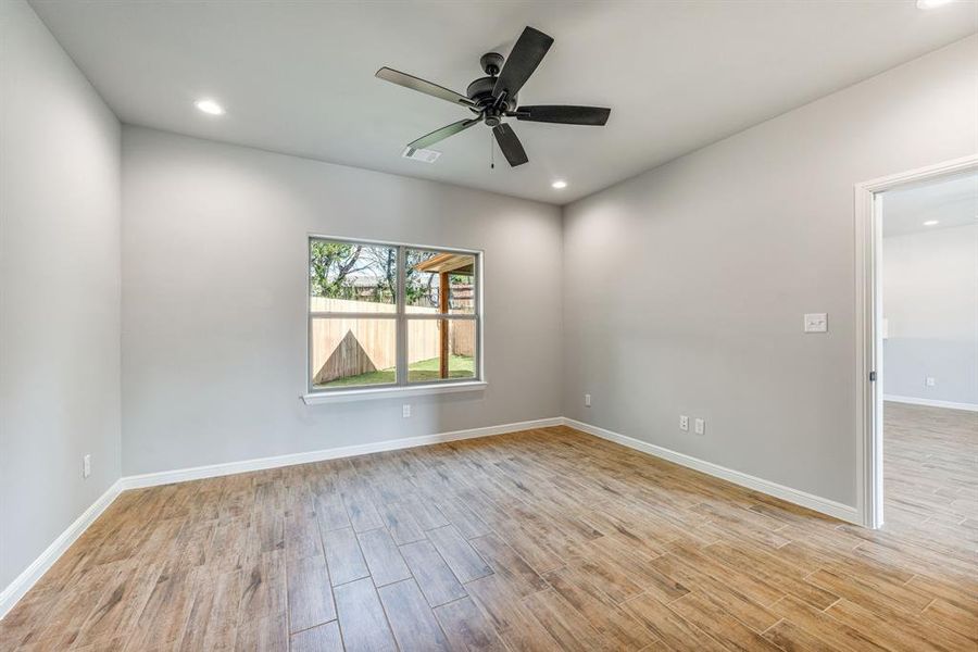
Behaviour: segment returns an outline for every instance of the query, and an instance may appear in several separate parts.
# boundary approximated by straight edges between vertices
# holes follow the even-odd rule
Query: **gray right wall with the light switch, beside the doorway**
[[[854,505],[853,185],[978,151],[976,61],[971,37],[566,206],[564,414]]]

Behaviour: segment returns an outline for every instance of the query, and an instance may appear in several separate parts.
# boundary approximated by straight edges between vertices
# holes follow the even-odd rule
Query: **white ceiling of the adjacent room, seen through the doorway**
[[[978,172],[882,195],[883,237],[966,224],[978,224]]]

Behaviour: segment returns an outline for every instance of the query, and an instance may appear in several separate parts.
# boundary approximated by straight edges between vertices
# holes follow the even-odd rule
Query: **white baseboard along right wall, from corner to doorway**
[[[786,487],[783,485],[778,485],[777,482],[772,482],[770,480],[765,480],[763,478],[748,475],[739,471],[734,471],[732,468],[727,468],[726,466],[720,466],[719,464],[706,462],[704,460],[700,460],[699,457],[693,457],[684,453],[677,453],[676,451],[662,448],[661,446],[648,443],[645,441],[641,441],[632,437],[627,437],[625,435],[620,435],[605,428],[592,426],[591,424],[575,421],[573,418],[564,417],[564,425],[581,430],[582,432],[587,432],[588,435],[607,439],[609,441],[614,441],[615,443],[627,446],[630,449],[635,449],[643,453],[649,453],[650,455],[662,457],[663,460],[667,460],[669,462],[675,462],[680,466],[686,466],[688,468],[705,473],[706,475],[728,480],[730,482],[734,482],[735,485],[740,485],[741,487],[747,487],[748,489],[753,489],[755,491],[767,493],[768,496],[773,496],[775,498],[780,498],[781,500],[786,500],[790,503],[794,503],[810,510],[815,510],[816,512],[833,516],[841,521],[862,525],[858,511],[851,505],[845,505],[827,498],[822,498],[819,496],[813,496],[812,493],[799,491],[798,489],[792,489],[791,487]]]

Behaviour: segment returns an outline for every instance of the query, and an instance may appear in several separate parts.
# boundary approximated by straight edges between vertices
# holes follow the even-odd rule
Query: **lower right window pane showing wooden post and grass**
[[[408,381],[475,378],[475,335],[474,319],[409,319]]]

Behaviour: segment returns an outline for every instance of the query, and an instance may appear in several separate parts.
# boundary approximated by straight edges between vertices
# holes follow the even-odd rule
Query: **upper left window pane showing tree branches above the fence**
[[[392,313],[397,288],[397,247],[310,240],[311,311]]]

